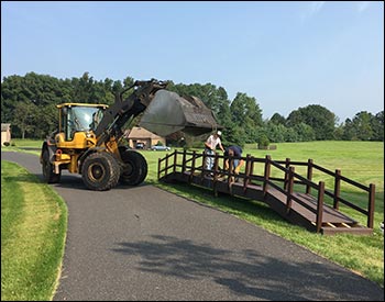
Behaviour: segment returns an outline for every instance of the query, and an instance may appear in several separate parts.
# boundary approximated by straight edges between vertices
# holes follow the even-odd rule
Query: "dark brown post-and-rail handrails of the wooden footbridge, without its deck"
[[[178,164],[177,163],[177,156],[178,155],[183,155],[183,163]],[[174,163],[173,164],[168,164],[168,159],[174,156]],[[187,158],[188,156],[191,156],[190,158]],[[187,150],[175,150],[173,154],[170,155],[166,155],[165,158],[160,159],[158,161],[158,179],[161,178],[161,172],[164,172],[165,175],[168,174],[169,169],[173,169],[173,171],[176,171],[177,167],[182,167],[183,171],[186,171],[186,169],[191,168],[193,171],[200,171],[201,175],[204,175],[204,172],[207,172],[208,170],[206,170],[204,168],[204,164],[199,167],[196,166],[196,160],[199,158],[202,158],[202,163],[205,163],[205,158],[206,157],[213,157],[217,160],[217,167],[218,167],[218,160],[219,159],[227,159],[230,158],[230,160],[232,160],[232,158],[237,158],[237,157],[229,157],[229,156],[224,156],[224,155],[206,155],[204,153],[197,153],[196,150],[194,152],[187,152]],[[336,210],[339,210],[339,203],[342,202],[343,204],[345,204],[346,206],[354,209],[355,211],[365,214],[367,216],[367,227],[373,228],[373,222],[374,222],[374,198],[375,198],[375,186],[373,183],[371,183],[369,187],[359,183],[348,177],[344,177],[341,175],[340,170],[336,170],[334,172],[321,167],[319,165],[314,164],[312,159],[308,159],[307,163],[304,161],[290,161],[289,158],[286,158],[286,160],[272,160],[271,156],[266,156],[265,158],[257,158],[257,157],[253,157],[248,155],[246,157],[239,157],[240,159],[245,160],[246,165],[246,171],[245,172],[240,172],[239,177],[244,178],[244,186],[248,186],[249,183],[251,183],[252,180],[258,180],[258,181],[263,181],[263,190],[264,193],[267,192],[268,190],[268,186],[274,187],[275,189],[279,188],[278,184],[274,183],[273,181],[278,181],[278,182],[283,182],[284,183],[284,188],[279,188],[277,190],[279,190],[282,193],[286,194],[287,198],[287,211],[289,211],[289,209],[292,208],[292,202],[295,201],[299,204],[301,204],[302,206],[307,208],[308,210],[315,212],[314,209],[309,209],[309,206],[305,205],[304,202],[301,202],[298,198],[296,198],[295,195],[293,195],[293,184],[294,183],[298,183],[298,184],[304,184],[306,186],[306,193],[310,194],[311,189],[315,189],[317,191],[317,202],[318,202],[318,208],[320,206],[320,203],[323,204],[323,198],[324,195],[328,195],[330,198],[333,199],[333,208]],[[165,168],[161,169],[161,164],[165,161]],[[191,165],[188,165],[189,163],[191,163]],[[255,163],[262,163],[265,165],[264,168],[264,175],[257,175],[253,172],[253,166]],[[278,178],[278,177],[271,177],[271,167],[275,167],[277,169],[279,169],[280,171],[283,171],[285,174],[284,178]],[[299,174],[297,174],[294,168],[295,166],[304,166],[307,167],[307,176],[304,177]],[[329,175],[331,177],[334,178],[334,188],[333,191],[329,191],[324,189],[324,182],[323,181],[319,181],[319,183],[316,183],[312,181],[312,172],[314,169],[319,170],[326,175]],[[212,171],[215,174],[215,178],[218,178],[218,170]],[[234,174],[232,172],[223,172],[223,170],[220,171],[222,175],[226,175],[229,179],[231,177],[234,177]],[[346,201],[345,199],[343,199],[340,195],[340,186],[341,186],[341,181],[345,181],[348,183],[350,183],[353,187],[356,187],[359,189],[364,190],[365,192],[369,192],[369,202],[367,202],[367,209],[362,209],[359,205],[355,205],[349,201]],[[318,215],[320,215],[321,208],[317,210],[317,221],[319,222],[320,217]]]

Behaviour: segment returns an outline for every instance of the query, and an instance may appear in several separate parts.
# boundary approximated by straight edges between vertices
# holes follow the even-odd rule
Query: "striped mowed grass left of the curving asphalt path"
[[[52,300],[64,253],[67,210],[47,184],[1,161],[1,300]]]

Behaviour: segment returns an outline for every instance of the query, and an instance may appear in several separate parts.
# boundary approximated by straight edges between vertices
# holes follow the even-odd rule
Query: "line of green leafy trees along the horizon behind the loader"
[[[4,77],[1,82],[1,123],[11,123],[13,137],[45,138],[57,127],[56,104],[112,104],[116,93],[133,82],[132,77],[123,81],[109,78],[95,80],[89,72],[72,79],[35,72]],[[257,100],[243,92],[229,100],[226,89],[212,83],[170,81],[167,89],[179,96],[200,98],[223,126],[226,145],[326,139],[384,142],[384,111],[376,114],[358,112],[339,124],[333,112],[319,104],[309,104],[292,111],[287,118],[274,113],[271,119],[263,120]],[[173,139],[176,143],[180,137],[172,135],[167,138],[173,144]]]

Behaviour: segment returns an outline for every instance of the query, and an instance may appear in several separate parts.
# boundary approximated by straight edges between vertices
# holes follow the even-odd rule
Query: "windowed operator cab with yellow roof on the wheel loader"
[[[65,142],[69,142],[78,132],[86,133],[95,130],[108,105],[63,103],[57,108],[59,109],[59,134]]]

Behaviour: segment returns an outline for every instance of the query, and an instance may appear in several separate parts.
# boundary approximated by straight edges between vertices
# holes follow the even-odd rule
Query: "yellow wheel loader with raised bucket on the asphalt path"
[[[122,182],[142,183],[147,175],[143,155],[124,144],[123,126],[136,116],[140,126],[158,134],[183,131],[193,135],[211,132],[219,125],[204,102],[166,90],[167,82],[135,81],[107,104],[58,104],[58,130],[47,136],[40,161],[44,180],[61,181],[62,170],[80,174],[90,190],[105,191]],[[123,93],[133,92],[123,100]]]

